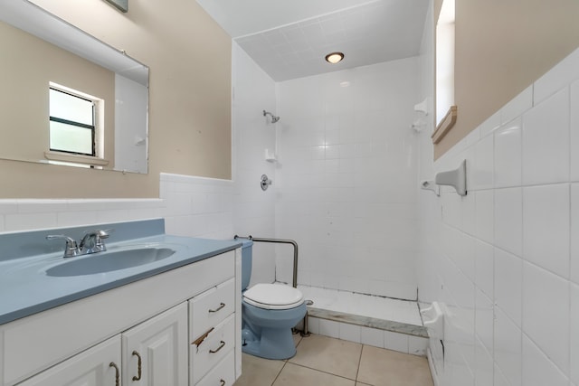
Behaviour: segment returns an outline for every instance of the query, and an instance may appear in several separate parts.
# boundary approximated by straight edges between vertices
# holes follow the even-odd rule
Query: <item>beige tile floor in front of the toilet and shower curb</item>
[[[298,353],[271,361],[243,353],[234,386],[432,386],[428,360],[327,336],[294,335]]]

